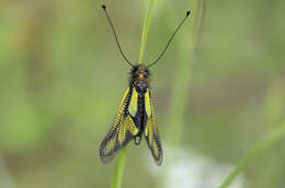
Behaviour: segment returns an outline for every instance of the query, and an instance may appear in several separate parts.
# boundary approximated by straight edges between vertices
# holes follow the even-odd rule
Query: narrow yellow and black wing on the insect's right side
[[[163,160],[163,152],[162,152],[159,131],[156,122],[153,102],[150,96],[149,89],[145,94],[145,106],[146,106],[146,111],[148,117],[146,129],[145,129],[145,137],[148,143],[148,148],[150,149],[151,154],[155,158],[155,162],[157,163],[157,165],[160,166]]]

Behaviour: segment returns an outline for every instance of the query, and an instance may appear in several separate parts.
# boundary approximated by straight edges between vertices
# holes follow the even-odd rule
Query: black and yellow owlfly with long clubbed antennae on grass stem
[[[160,166],[163,158],[163,151],[156,124],[152,96],[149,89],[149,68],[156,64],[166,54],[171,40],[183,25],[185,20],[189,17],[191,12],[186,12],[185,17],[181,21],[157,60],[149,63],[148,66],[145,66],[132,63],[126,58],[118,43],[117,35],[109,16],[106,7],[102,5],[102,9],[104,10],[106,19],[112,27],[119,52],[122,54],[125,61],[132,67],[132,72],[129,86],[125,91],[124,97],[119,104],[115,121],[100,145],[101,161],[103,163],[109,163],[128,142],[134,140],[135,144],[138,145],[140,143],[141,137],[145,137],[156,164]]]

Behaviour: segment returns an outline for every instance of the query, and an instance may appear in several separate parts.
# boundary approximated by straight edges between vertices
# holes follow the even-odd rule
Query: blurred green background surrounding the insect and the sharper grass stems
[[[115,161],[99,145],[127,87],[100,5],[137,61],[149,1],[23,0],[0,5],[0,187],[110,187]],[[157,167],[129,144],[123,187],[210,188],[285,118],[285,1],[157,0],[144,62],[151,69],[164,149]],[[235,188],[282,188],[285,141],[254,160]]]

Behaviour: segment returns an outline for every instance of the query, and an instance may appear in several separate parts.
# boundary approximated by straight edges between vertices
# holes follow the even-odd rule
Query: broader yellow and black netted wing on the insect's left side
[[[132,90],[127,89],[119,104],[115,121],[100,145],[100,157],[103,163],[107,163],[116,155],[119,149],[134,140],[138,132],[130,115],[127,113],[127,106],[132,98]]]

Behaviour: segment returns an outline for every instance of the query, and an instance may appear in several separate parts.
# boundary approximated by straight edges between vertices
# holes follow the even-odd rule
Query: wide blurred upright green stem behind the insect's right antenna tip
[[[176,36],[179,40],[179,56],[176,62],[173,63],[174,84],[172,85],[170,96],[170,107],[168,113],[168,141],[171,144],[179,145],[183,142],[184,129],[186,119],[185,113],[189,109],[190,91],[192,85],[192,66],[195,61],[195,49],[198,43],[197,36],[202,32],[203,16],[205,14],[205,8],[202,8],[205,0],[195,0],[189,3],[191,15],[185,25]],[[174,2],[175,3],[175,2]],[[174,8],[174,4],[171,4]],[[174,12],[175,9],[171,9]],[[187,10],[187,9],[185,9]],[[180,12],[175,17],[183,15]],[[173,20],[174,22],[174,20]],[[179,84],[178,84],[179,83]],[[191,115],[190,115],[191,116]],[[175,126],[173,126],[175,125]]]

